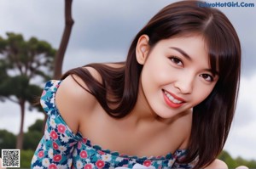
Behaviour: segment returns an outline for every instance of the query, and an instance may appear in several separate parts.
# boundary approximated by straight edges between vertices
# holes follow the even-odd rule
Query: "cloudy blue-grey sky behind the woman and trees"
[[[156,12],[173,0],[83,0],[73,1],[73,31],[63,63],[63,70],[90,62],[125,59],[132,38]],[[216,3],[218,1],[208,1]],[[223,0],[222,3],[235,1]],[[236,117],[224,147],[231,155],[256,159],[256,2],[254,8],[219,8],[236,28],[241,39],[242,75]],[[0,36],[12,31],[26,39],[38,37],[58,48],[64,29],[64,1],[0,1]],[[0,103],[0,129],[17,133],[20,110],[16,104]],[[26,111],[25,130],[41,113]]]

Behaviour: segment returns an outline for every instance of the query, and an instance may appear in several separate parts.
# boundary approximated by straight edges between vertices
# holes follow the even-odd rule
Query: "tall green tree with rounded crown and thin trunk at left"
[[[32,109],[34,100],[42,92],[39,84],[52,76],[55,49],[36,37],[25,40],[22,35],[7,33],[0,37],[0,100],[20,105],[20,132],[16,149],[22,149],[26,103]]]

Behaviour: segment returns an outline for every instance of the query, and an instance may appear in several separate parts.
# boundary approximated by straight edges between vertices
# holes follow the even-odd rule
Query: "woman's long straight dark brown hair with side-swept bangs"
[[[224,147],[236,109],[241,71],[241,46],[230,20],[217,8],[202,8],[199,1],[172,3],[148,21],[131,42],[127,59],[119,68],[90,64],[102,76],[97,82],[83,67],[67,71],[80,76],[108,115],[122,118],[137,102],[143,65],[136,59],[139,37],[148,35],[149,45],[176,36],[200,34],[205,38],[212,70],[218,71],[218,82],[212,93],[193,108],[193,124],[188,155],[182,162],[199,160],[195,168],[209,165]],[[108,95],[112,95],[108,99]],[[115,106],[109,106],[114,104]]]

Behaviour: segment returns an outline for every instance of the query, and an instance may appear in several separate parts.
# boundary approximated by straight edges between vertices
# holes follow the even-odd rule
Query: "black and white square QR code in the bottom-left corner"
[[[2,167],[20,167],[20,149],[2,149]]]

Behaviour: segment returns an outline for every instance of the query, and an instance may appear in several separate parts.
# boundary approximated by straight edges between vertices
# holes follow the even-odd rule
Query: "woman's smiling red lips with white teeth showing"
[[[171,108],[179,108],[185,102],[183,99],[178,98],[176,95],[169,93],[166,90],[163,90],[163,95],[164,95],[166,104]]]

